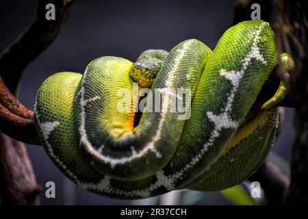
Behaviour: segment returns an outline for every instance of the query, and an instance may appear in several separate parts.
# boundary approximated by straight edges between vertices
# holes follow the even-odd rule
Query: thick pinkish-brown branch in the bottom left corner
[[[3,205],[39,203],[40,186],[24,144],[3,133],[0,133],[0,192]]]

